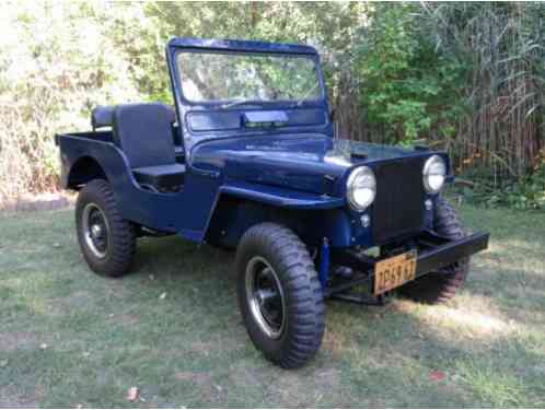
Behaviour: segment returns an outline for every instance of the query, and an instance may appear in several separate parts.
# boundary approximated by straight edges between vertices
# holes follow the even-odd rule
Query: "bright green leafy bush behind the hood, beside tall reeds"
[[[391,142],[426,136],[452,116],[464,67],[432,48],[420,27],[419,5],[378,3],[358,47],[360,104],[367,120],[385,125]]]

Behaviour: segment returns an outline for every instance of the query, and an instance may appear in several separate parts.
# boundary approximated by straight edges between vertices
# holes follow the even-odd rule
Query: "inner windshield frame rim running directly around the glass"
[[[314,63],[314,69],[316,72],[316,80],[317,80],[317,86],[318,86],[318,92],[320,95],[315,99],[263,99],[263,101],[255,101],[253,99],[252,103],[248,103],[248,105],[263,105],[265,107],[281,107],[281,106],[294,106],[295,104],[299,103],[299,106],[318,106],[323,105],[324,99],[326,97],[326,91],[325,91],[325,81],[324,81],[324,75],[322,72],[322,68],[320,65],[320,57],[317,54],[311,54],[311,52],[292,52],[292,51],[263,51],[263,50],[239,50],[239,49],[213,49],[213,48],[185,48],[185,47],[177,47],[173,55],[173,69],[174,69],[174,78],[177,83],[177,89],[179,93],[179,99],[186,105],[193,106],[193,107],[208,107],[208,108],[222,108],[223,105],[228,105],[230,103],[239,101],[237,98],[230,98],[230,99],[206,99],[206,101],[193,101],[186,97],[184,94],[184,86],[182,84],[183,81],[183,69],[178,65],[178,57],[181,54],[210,54],[210,55],[250,55],[250,56],[278,56],[282,57],[286,56],[288,58],[306,58],[311,60]],[[244,104],[240,105],[244,106]]]

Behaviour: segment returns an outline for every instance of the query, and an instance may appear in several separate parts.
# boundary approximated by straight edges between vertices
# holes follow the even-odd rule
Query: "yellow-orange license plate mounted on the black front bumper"
[[[415,279],[416,250],[393,256],[374,265],[374,295],[401,286]]]

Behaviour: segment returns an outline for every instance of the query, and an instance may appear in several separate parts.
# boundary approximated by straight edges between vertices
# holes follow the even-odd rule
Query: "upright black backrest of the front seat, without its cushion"
[[[114,141],[131,168],[176,162],[172,124],[174,110],[163,104],[124,104],[114,112]]]

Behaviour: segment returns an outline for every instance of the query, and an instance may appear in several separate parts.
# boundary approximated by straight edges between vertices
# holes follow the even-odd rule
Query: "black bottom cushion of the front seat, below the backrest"
[[[136,180],[159,191],[175,191],[184,185],[185,165],[169,164],[132,168]]]

